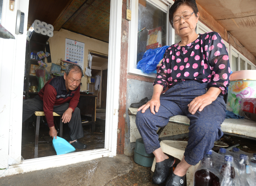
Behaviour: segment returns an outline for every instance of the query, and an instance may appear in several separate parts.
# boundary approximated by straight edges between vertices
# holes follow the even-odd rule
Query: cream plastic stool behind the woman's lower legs
[[[185,148],[187,145],[188,145],[188,142],[184,142],[184,141],[162,140],[160,142],[161,149],[164,153],[169,154],[174,158],[178,158],[179,160],[182,160],[185,152]],[[196,171],[196,168],[198,167],[199,163],[196,164],[195,166],[191,166],[188,169],[186,173],[187,186],[194,185],[194,172]],[[156,166],[156,158],[154,158],[154,162],[151,168],[153,172],[155,170],[155,166]]]

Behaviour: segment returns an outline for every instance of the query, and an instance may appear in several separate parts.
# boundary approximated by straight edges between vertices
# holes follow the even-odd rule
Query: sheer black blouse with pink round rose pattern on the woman
[[[220,34],[207,32],[186,46],[174,44],[164,53],[154,85],[166,90],[175,82],[196,80],[218,87],[221,95],[230,85],[230,65],[226,46]]]

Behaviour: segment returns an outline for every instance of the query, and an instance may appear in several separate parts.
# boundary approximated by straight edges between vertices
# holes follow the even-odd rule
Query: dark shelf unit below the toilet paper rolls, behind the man
[[[24,95],[26,99],[34,98],[39,92],[38,80],[35,70],[39,68],[38,60],[31,59],[31,52],[45,51],[45,45],[49,36],[34,32],[30,41],[26,42],[25,72],[24,72]],[[44,62],[44,58],[42,59]]]

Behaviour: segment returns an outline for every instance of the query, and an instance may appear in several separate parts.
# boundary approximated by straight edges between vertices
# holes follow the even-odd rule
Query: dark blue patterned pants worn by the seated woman
[[[189,139],[184,156],[190,165],[196,165],[214,146],[214,141],[223,135],[220,125],[225,119],[226,105],[223,96],[206,106],[201,112],[194,115],[188,112],[188,104],[197,96],[205,94],[207,83],[196,81],[182,81],[174,84],[169,90],[160,96],[160,108],[156,114],[152,114],[148,108],[145,113],[138,112],[136,125],[142,136],[146,153],[152,153],[160,148],[158,135],[159,127],[168,124],[169,118],[176,115],[184,115],[190,119],[188,128]]]

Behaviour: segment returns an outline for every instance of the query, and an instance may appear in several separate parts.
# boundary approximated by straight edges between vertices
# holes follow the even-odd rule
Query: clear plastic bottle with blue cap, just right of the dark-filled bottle
[[[222,186],[234,186],[235,170],[233,156],[225,155],[225,163],[220,169],[220,174],[223,176]]]

